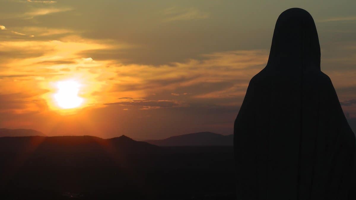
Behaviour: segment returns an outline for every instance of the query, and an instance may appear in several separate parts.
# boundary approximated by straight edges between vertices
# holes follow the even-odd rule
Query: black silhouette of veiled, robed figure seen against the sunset
[[[235,120],[237,199],[356,199],[355,147],[312,16],[282,12]]]

